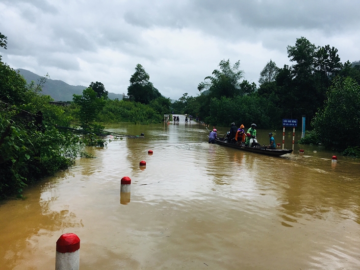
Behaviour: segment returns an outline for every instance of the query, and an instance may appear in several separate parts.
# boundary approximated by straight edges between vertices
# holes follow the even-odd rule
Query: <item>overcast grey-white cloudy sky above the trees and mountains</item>
[[[359,0],[0,0],[3,61],[71,85],[127,93],[136,64],[166,97],[196,96],[222,59],[258,84],[306,37],[360,60]]]

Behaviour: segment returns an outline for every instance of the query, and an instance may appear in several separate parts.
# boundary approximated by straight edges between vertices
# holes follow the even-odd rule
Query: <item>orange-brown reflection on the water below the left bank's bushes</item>
[[[64,179],[69,176],[68,172],[59,174]],[[46,269],[51,259],[34,261],[33,254],[54,252],[54,243],[61,235],[54,235],[54,231],[83,227],[70,205],[53,209],[52,204],[60,196],[56,189],[55,181],[44,181],[26,191],[26,200],[11,200],[1,205],[1,269]]]

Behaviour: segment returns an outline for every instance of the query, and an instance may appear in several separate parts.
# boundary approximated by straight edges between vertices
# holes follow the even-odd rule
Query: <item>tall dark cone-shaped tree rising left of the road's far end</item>
[[[130,100],[149,104],[151,100],[161,97],[161,94],[149,79],[150,75],[146,73],[143,66],[137,64],[135,73],[131,75],[130,85],[128,87]]]

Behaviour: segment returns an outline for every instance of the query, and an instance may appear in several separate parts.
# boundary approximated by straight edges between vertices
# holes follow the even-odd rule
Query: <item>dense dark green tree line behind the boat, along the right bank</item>
[[[258,87],[244,79],[239,61],[231,65],[229,59],[221,60],[219,69],[199,83],[201,94],[184,93],[173,104],[174,112],[211,125],[257,123],[263,129],[279,129],[282,119],[306,116],[311,132],[302,142],[359,150],[360,65],[341,63],[337,49],[315,46],[305,37],[286,49],[293,65],[279,68],[270,59]]]

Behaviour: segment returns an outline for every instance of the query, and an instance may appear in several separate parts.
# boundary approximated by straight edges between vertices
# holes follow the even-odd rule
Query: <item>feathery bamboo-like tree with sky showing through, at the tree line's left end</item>
[[[214,70],[212,76],[205,77],[204,81],[199,83],[198,90],[209,90],[210,98],[227,97],[232,98],[244,93],[240,87],[240,79],[244,71],[240,70],[240,60],[232,67],[230,59],[221,60],[219,63],[220,70]]]

